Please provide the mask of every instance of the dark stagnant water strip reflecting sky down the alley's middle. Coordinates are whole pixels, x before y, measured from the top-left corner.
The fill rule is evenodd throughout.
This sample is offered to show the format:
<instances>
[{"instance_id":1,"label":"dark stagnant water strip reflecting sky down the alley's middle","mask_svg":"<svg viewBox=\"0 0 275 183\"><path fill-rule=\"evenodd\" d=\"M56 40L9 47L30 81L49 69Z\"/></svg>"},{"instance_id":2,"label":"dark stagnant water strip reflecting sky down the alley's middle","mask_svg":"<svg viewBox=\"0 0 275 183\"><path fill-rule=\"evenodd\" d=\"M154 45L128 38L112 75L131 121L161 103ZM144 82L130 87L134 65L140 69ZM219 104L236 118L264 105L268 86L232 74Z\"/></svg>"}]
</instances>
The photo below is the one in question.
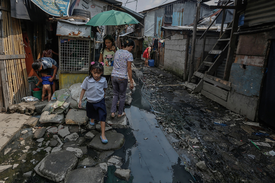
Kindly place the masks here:
<instances>
[{"instance_id":1,"label":"dark stagnant water strip reflecting sky down the alley's middle","mask_svg":"<svg viewBox=\"0 0 275 183\"><path fill-rule=\"evenodd\" d=\"M131 169L129 182L200 182L185 170L184 162L166 139L150 104L143 97L149 95L145 92L142 84L136 86L131 106L125 108L131 128L117 130L124 134L125 144L114 155L125 158L122 168ZM105 182L126 182L114 177L112 172L114 168L108 168Z\"/></svg>"}]
</instances>

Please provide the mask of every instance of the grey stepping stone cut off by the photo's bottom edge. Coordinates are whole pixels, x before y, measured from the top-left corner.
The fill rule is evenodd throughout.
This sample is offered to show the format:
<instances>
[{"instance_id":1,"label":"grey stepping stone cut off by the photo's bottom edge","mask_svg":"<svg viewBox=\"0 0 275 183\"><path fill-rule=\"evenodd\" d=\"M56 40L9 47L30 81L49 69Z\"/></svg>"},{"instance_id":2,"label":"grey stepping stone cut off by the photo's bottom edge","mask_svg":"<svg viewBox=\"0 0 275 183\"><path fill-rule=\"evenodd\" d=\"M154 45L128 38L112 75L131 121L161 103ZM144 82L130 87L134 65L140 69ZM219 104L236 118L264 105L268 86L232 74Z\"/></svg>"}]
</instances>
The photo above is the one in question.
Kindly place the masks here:
<instances>
[{"instance_id":1,"label":"grey stepping stone cut off by the photo's bottom edge","mask_svg":"<svg viewBox=\"0 0 275 183\"><path fill-rule=\"evenodd\" d=\"M103 183L104 175L100 167L79 168L69 172L64 183Z\"/></svg>"}]
</instances>

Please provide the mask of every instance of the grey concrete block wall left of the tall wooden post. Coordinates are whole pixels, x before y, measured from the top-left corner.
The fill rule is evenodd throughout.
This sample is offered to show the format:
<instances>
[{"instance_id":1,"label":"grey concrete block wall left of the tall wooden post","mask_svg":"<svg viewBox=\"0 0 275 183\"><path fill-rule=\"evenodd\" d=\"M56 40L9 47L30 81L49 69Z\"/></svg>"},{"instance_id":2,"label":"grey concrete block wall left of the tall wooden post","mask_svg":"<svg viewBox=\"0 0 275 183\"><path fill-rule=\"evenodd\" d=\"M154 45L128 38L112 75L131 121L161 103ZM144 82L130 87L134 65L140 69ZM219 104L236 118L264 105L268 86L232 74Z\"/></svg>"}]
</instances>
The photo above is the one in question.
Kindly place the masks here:
<instances>
[{"instance_id":1,"label":"grey concrete block wall left of the tall wooden post","mask_svg":"<svg viewBox=\"0 0 275 183\"><path fill-rule=\"evenodd\" d=\"M186 62L187 38L184 34L175 34L165 39L164 69L183 77Z\"/></svg>"}]
</instances>

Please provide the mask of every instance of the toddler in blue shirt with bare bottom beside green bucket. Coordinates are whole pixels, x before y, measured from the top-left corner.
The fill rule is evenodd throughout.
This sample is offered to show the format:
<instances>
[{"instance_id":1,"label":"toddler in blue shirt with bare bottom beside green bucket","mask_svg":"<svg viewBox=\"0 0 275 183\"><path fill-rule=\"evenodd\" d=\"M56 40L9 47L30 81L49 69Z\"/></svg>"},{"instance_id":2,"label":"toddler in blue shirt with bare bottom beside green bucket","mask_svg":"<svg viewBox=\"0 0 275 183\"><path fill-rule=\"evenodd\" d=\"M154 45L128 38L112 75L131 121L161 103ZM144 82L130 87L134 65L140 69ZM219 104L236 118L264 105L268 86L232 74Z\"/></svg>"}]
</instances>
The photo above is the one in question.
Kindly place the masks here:
<instances>
[{"instance_id":1,"label":"toddler in blue shirt with bare bottom beside green bucket","mask_svg":"<svg viewBox=\"0 0 275 183\"><path fill-rule=\"evenodd\" d=\"M48 75L48 69L43 69L40 71L40 73L41 73L41 79L43 84L41 101L44 101L46 91L48 91L48 101L50 101L52 96L51 85L53 84L53 82L50 82L49 78L51 78L52 76ZM41 83L40 81L37 82L36 86L38 86L40 83Z\"/></svg>"}]
</instances>

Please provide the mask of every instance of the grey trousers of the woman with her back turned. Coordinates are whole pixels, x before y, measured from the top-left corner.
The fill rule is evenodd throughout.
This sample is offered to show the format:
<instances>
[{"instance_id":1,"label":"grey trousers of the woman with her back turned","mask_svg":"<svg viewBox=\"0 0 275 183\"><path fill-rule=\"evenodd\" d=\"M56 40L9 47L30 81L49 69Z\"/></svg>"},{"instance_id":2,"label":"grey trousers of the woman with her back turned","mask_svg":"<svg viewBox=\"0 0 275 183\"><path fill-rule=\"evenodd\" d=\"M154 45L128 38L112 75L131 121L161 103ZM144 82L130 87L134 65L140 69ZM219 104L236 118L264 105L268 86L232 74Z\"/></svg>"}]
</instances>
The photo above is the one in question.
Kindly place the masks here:
<instances>
[{"instance_id":1,"label":"grey trousers of the woman with her back turned","mask_svg":"<svg viewBox=\"0 0 275 183\"><path fill-rule=\"evenodd\" d=\"M116 112L116 105L119 98L118 114L123 113L124 103L126 99L126 90L128 85L128 79L122 77L111 77L113 84L113 101L111 112Z\"/></svg>"}]
</instances>

